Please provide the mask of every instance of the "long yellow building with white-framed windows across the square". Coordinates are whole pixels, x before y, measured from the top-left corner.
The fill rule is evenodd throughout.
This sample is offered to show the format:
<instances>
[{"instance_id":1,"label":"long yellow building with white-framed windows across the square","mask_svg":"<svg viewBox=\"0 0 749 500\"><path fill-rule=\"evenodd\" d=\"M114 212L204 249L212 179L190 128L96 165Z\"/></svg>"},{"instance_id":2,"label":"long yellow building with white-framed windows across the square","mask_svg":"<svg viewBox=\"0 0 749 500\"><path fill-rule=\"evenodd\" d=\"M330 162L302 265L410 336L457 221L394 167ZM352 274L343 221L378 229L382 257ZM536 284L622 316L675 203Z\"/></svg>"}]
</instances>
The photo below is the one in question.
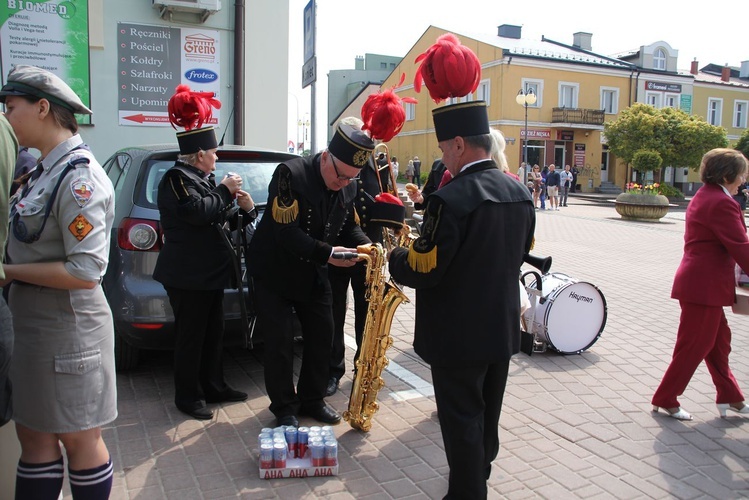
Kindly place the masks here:
<instances>
[{"instance_id":1,"label":"long yellow building with white-framed windows across the square","mask_svg":"<svg viewBox=\"0 0 749 500\"><path fill-rule=\"evenodd\" d=\"M444 33L430 26L382 85L397 84L405 73L406 83L397 92L419 100L416 105L406 104L406 123L389 143L401 166L414 156L426 165L441 157L432 110L446 103L435 104L426 89L415 92L413 75L418 66L413 61ZM478 89L459 100L487 102L491 126L507 140L511 169L524 160L527 130L528 162L577 167L583 192L609 184L623 187L634 178L631 167L608 151L603 130L606 122L636 102L702 116L726 128L734 142L747 127L749 79L744 73L749 63L742 64L741 70L731 69L726 80L726 75L721 79L711 74L712 67L696 73L679 70L678 51L664 41L609 57L593 52L589 33L575 33L569 45L547 38L522 39L521 28L511 25L500 26L497 36L456 35L482 64ZM535 102L527 108L518 104L518 93L533 93ZM665 179L685 193L700 185L698 174L686 166L667 168Z\"/></svg>"}]
</instances>

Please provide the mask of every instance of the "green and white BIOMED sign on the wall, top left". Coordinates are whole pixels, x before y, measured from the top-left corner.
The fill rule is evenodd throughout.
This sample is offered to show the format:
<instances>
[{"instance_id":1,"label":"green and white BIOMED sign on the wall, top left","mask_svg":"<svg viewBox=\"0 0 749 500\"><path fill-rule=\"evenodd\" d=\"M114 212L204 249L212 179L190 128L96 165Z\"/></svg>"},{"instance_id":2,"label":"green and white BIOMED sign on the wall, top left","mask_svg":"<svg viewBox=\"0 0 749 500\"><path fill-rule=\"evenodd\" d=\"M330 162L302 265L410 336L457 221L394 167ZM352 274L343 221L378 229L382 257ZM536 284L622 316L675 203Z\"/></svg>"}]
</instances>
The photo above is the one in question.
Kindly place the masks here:
<instances>
[{"instance_id":1,"label":"green and white BIOMED sign on the wall, top left","mask_svg":"<svg viewBox=\"0 0 749 500\"><path fill-rule=\"evenodd\" d=\"M0 80L16 65L38 66L70 85L91 107L88 0L2 0ZM77 115L79 123L91 123Z\"/></svg>"}]
</instances>

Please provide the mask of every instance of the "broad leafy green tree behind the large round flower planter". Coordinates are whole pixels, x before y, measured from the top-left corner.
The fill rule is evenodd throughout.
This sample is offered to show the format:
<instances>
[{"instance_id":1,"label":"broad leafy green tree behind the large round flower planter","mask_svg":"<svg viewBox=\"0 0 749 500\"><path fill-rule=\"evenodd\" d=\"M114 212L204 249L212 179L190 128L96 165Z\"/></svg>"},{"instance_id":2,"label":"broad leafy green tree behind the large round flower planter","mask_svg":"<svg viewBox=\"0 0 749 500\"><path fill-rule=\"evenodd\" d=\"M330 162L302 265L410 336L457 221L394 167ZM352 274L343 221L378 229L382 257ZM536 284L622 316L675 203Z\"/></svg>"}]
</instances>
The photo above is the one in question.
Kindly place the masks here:
<instances>
[{"instance_id":1,"label":"broad leafy green tree behind the large round flower planter","mask_svg":"<svg viewBox=\"0 0 749 500\"><path fill-rule=\"evenodd\" d=\"M728 145L726 131L707 123L702 117L680 109L656 109L636 103L622 111L619 118L604 125L609 151L627 163L641 150L657 152L664 167L689 167L697 170L702 155L713 148Z\"/></svg>"}]
</instances>

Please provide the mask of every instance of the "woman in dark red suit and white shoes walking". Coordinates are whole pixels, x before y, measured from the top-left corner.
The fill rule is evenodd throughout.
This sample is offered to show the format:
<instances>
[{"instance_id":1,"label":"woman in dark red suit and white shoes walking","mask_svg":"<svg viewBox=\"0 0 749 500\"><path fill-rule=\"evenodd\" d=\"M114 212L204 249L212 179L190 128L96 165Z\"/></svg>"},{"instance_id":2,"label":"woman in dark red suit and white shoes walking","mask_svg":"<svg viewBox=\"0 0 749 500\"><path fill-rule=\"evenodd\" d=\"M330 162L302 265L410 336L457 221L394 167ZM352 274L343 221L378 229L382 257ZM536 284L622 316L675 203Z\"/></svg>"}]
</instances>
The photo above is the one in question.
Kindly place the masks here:
<instances>
[{"instance_id":1,"label":"woman in dark red suit and white shoes walking","mask_svg":"<svg viewBox=\"0 0 749 500\"><path fill-rule=\"evenodd\" d=\"M704 360L717 389L720 416L727 410L749 414L728 367L731 329L723 312L735 299L735 264L749 270L746 225L732 198L746 180L747 168L746 158L733 149L713 149L702 157L704 185L687 208L684 257L671 290L681 306L679 331L671 364L653 395L654 412L663 408L673 418L692 419L677 398Z\"/></svg>"}]
</instances>

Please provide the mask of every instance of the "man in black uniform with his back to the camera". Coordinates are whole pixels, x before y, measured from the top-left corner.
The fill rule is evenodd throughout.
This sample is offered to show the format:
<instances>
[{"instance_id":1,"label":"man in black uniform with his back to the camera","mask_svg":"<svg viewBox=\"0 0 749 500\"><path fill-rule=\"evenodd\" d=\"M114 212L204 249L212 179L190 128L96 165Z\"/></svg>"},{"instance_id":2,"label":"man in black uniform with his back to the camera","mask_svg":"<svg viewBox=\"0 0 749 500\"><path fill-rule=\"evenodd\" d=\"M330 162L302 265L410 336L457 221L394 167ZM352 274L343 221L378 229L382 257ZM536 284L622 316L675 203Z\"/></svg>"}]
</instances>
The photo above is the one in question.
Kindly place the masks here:
<instances>
[{"instance_id":1,"label":"man in black uniform with his back to the camera","mask_svg":"<svg viewBox=\"0 0 749 500\"><path fill-rule=\"evenodd\" d=\"M431 365L450 467L445 498L486 498L520 348L518 276L535 213L525 186L490 159L486 103L440 107L433 117L453 179L427 198L422 235L391 252L390 273L416 289L414 349Z\"/></svg>"}]
</instances>

